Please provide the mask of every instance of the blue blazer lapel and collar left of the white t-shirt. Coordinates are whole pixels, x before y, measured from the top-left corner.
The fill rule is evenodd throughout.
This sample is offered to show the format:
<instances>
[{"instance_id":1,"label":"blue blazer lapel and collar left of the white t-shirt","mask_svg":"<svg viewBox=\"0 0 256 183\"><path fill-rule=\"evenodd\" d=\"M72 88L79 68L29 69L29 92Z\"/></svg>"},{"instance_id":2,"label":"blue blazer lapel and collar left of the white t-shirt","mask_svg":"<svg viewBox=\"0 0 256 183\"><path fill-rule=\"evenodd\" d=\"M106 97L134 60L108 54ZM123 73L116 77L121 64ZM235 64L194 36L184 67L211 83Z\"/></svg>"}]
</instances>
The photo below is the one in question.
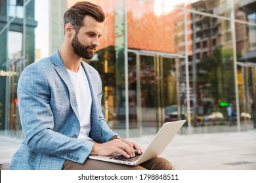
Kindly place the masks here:
<instances>
[{"instance_id":1,"label":"blue blazer lapel and collar left of the white t-shirt","mask_svg":"<svg viewBox=\"0 0 256 183\"><path fill-rule=\"evenodd\" d=\"M66 70L64 63L63 63L62 59L60 58L60 54L58 51L56 51L55 54L53 55L52 61L53 61L53 64L55 65L54 66L55 71L58 73L60 78L62 78L62 80L68 87L68 91L70 93L70 105L75 112L75 116L77 116L77 119L79 120L75 90L74 90L72 81L70 79L70 76L68 75L68 71Z\"/></svg>"}]
</instances>

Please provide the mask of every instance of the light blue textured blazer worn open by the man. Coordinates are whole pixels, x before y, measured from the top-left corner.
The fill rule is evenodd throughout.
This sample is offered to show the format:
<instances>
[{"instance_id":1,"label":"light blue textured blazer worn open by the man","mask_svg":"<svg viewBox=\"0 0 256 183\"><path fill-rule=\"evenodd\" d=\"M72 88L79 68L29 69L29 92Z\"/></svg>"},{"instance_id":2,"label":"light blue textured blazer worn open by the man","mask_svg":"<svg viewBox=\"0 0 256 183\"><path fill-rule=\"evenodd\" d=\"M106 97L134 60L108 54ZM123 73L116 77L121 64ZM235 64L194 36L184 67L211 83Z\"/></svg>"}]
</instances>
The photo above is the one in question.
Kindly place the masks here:
<instances>
[{"instance_id":1,"label":"light blue textured blazer worn open by the man","mask_svg":"<svg viewBox=\"0 0 256 183\"><path fill-rule=\"evenodd\" d=\"M81 63L93 99L90 137L107 142L117 135L102 114L98 72ZM10 169L62 169L65 159L84 163L94 142L77 139L80 131L75 91L59 52L28 65L18 81L18 109L24 141Z\"/></svg>"}]
</instances>

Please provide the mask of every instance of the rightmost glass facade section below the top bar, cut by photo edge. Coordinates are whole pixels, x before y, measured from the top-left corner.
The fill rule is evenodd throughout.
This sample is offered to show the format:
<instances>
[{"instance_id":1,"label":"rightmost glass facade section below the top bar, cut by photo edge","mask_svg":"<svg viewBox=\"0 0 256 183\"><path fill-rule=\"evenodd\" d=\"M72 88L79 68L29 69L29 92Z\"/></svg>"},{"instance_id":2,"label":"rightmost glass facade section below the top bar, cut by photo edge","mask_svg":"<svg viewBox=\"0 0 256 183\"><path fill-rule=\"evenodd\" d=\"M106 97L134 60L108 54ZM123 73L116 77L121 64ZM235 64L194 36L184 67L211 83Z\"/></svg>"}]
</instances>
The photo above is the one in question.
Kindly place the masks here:
<instances>
[{"instance_id":1,"label":"rightmost glass facade section below the top bar, cut by photo edge","mask_svg":"<svg viewBox=\"0 0 256 183\"><path fill-rule=\"evenodd\" d=\"M236 23L236 51L238 59L238 89L242 131L253 129L256 93L256 26Z\"/></svg>"}]
</instances>

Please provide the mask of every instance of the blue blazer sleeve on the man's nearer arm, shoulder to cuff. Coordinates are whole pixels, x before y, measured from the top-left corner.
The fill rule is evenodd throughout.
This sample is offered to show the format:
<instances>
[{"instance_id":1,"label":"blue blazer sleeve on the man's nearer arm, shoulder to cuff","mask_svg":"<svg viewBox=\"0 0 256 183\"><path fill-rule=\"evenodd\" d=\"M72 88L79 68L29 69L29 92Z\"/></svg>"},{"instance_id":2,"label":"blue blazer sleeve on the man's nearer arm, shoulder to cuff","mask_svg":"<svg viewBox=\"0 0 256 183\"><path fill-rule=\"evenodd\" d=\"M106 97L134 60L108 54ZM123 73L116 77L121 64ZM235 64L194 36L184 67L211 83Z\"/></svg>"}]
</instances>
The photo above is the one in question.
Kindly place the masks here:
<instances>
[{"instance_id":1,"label":"blue blazer sleeve on the man's nearer arm, shoulder to cuff","mask_svg":"<svg viewBox=\"0 0 256 183\"><path fill-rule=\"evenodd\" d=\"M46 77L51 74L37 66L26 67L18 81L18 108L25 141L34 153L83 163L94 142L72 138L72 127L64 133L54 131L51 90Z\"/></svg>"}]
</instances>

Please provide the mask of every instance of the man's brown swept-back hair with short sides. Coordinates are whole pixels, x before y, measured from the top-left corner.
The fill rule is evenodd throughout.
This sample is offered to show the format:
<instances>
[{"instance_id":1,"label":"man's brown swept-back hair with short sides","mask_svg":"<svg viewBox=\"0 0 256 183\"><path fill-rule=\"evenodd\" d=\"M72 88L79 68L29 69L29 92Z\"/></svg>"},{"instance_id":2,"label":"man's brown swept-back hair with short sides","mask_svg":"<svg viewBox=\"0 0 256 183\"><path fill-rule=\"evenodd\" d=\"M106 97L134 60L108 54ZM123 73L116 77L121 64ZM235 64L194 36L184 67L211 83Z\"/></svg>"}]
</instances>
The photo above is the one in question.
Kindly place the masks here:
<instances>
[{"instance_id":1,"label":"man's brown swept-back hair with short sides","mask_svg":"<svg viewBox=\"0 0 256 183\"><path fill-rule=\"evenodd\" d=\"M78 33L80 27L83 26L83 19L86 15L92 16L98 22L104 22L105 20L104 11L100 6L87 1L81 1L75 3L75 5L68 8L64 13L64 27L70 22L74 27L75 32Z\"/></svg>"}]
</instances>

